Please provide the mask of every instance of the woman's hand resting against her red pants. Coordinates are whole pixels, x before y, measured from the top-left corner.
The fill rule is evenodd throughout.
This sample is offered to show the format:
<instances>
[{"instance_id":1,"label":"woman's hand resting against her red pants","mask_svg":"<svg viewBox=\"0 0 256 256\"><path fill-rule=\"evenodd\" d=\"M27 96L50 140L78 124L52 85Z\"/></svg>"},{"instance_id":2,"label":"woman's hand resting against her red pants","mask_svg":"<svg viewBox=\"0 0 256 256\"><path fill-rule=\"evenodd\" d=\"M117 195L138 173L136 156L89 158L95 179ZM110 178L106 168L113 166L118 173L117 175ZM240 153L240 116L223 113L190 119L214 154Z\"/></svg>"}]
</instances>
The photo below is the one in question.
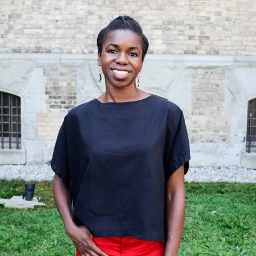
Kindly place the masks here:
<instances>
[{"instance_id":1,"label":"woman's hand resting against her red pants","mask_svg":"<svg viewBox=\"0 0 256 256\"><path fill-rule=\"evenodd\" d=\"M108 256L103 253L92 241L92 235L85 226L76 226L66 228L68 237L74 242L81 256Z\"/></svg>"}]
</instances>

